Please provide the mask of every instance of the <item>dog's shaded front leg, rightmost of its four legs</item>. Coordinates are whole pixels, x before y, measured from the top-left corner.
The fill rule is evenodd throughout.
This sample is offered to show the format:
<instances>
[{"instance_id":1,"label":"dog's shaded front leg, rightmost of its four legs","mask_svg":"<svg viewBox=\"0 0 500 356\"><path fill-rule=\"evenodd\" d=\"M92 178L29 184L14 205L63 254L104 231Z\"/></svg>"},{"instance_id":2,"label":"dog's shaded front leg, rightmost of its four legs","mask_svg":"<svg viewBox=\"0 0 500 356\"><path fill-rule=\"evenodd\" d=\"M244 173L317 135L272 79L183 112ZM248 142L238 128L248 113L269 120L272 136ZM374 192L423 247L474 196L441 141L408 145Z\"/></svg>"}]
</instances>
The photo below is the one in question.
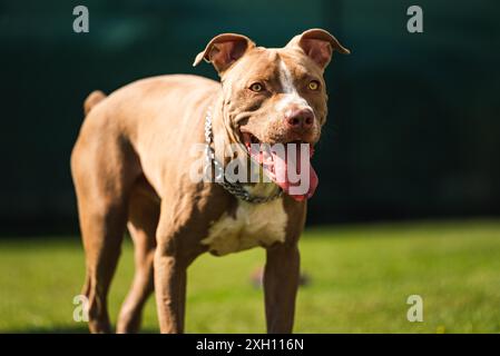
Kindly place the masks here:
<instances>
[{"instance_id":1,"label":"dog's shaded front leg, rightmost of its four legs","mask_svg":"<svg viewBox=\"0 0 500 356\"><path fill-rule=\"evenodd\" d=\"M267 248L264 270L267 333L292 333L298 277L300 254L296 243L276 244Z\"/></svg>"}]
</instances>

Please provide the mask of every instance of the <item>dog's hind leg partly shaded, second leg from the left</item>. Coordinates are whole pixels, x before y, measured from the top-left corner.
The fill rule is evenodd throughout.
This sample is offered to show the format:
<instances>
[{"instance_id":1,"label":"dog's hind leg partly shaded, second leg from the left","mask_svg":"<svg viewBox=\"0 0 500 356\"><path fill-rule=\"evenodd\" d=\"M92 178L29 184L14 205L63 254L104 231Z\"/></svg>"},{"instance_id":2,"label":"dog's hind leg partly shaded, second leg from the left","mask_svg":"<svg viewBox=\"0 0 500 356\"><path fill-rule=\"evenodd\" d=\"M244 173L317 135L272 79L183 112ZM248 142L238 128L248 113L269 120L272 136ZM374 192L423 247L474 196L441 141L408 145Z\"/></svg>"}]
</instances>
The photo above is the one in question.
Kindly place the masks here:
<instances>
[{"instance_id":1,"label":"dog's hind leg partly shaded, second leg from the left","mask_svg":"<svg viewBox=\"0 0 500 356\"><path fill-rule=\"evenodd\" d=\"M153 263L159 218L159 204L155 200L140 186L130 196L127 226L134 241L136 271L118 317L117 333L120 334L139 330L144 305L154 290Z\"/></svg>"}]
</instances>

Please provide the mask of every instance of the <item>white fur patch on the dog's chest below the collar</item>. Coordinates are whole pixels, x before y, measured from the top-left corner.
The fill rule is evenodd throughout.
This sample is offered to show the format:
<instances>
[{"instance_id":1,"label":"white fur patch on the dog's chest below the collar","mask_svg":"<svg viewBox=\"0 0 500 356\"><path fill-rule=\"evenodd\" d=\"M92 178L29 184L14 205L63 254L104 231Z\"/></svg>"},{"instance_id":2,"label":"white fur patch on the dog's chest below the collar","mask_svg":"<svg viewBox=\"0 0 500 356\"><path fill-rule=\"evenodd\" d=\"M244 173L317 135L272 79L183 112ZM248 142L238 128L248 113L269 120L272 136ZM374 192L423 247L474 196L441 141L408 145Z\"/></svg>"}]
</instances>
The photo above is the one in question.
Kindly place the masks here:
<instances>
[{"instance_id":1,"label":"white fur patch on the dog's chest below the collar","mask_svg":"<svg viewBox=\"0 0 500 356\"><path fill-rule=\"evenodd\" d=\"M235 214L224 212L214 221L202 244L217 256L269 246L285 240L287 215L283 200L266 204L239 201Z\"/></svg>"}]
</instances>

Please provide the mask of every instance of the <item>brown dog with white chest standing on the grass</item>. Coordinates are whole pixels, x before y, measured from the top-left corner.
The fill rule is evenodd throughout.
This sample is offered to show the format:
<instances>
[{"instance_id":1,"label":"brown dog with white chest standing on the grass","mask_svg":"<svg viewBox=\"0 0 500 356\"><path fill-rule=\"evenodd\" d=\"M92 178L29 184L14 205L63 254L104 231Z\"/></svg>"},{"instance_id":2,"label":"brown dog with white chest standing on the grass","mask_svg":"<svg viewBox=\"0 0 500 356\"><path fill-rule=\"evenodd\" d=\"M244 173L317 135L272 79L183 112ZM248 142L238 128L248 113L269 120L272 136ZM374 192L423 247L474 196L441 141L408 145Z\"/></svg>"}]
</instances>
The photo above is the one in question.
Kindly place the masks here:
<instances>
[{"instance_id":1,"label":"brown dog with white chest standing on the grass","mask_svg":"<svg viewBox=\"0 0 500 356\"><path fill-rule=\"evenodd\" d=\"M320 29L305 31L280 49L225 33L195 60L195 65L202 59L212 62L220 83L163 76L139 80L109 97L96 91L87 98L71 171L92 333L111 332L106 300L126 227L135 245L136 274L117 332L138 330L143 306L155 287L160 330L182 333L186 269L193 260L205 251L225 255L255 246L267 253L267 330L292 332L297 240L317 177L310 168L306 190L294 194L294 182L281 174L290 166L298 172L310 167L308 156L292 165L285 151L284 158L273 154L264 164L252 147L317 142L326 120L323 71L334 50L349 53ZM233 158L261 162L273 182L194 180L190 172L197 159L189 152L204 142L215 149L208 160L212 172L213 165L228 162L222 154L225 147L237 144ZM276 178L280 175L282 179Z\"/></svg>"}]
</instances>

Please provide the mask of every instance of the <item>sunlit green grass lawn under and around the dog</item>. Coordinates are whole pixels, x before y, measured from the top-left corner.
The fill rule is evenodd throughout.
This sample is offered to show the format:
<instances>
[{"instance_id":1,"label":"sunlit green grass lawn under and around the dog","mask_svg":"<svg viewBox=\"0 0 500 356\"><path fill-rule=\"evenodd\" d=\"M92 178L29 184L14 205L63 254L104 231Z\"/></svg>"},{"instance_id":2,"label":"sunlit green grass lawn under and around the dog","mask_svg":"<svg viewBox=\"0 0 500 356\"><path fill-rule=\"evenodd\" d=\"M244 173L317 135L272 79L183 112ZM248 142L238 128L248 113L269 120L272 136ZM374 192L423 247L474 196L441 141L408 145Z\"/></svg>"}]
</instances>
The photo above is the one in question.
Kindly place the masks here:
<instances>
[{"instance_id":1,"label":"sunlit green grass lawn under and around the dog","mask_svg":"<svg viewBox=\"0 0 500 356\"><path fill-rule=\"evenodd\" d=\"M116 320L133 275L130 244L109 296ZM365 225L307 230L296 333L500 333L500 222ZM189 269L186 332L264 333L254 249L200 257ZM0 332L86 332L72 320L84 280L78 238L0 240ZM422 296L423 323L406 320ZM157 332L154 298L144 327Z\"/></svg>"}]
</instances>

